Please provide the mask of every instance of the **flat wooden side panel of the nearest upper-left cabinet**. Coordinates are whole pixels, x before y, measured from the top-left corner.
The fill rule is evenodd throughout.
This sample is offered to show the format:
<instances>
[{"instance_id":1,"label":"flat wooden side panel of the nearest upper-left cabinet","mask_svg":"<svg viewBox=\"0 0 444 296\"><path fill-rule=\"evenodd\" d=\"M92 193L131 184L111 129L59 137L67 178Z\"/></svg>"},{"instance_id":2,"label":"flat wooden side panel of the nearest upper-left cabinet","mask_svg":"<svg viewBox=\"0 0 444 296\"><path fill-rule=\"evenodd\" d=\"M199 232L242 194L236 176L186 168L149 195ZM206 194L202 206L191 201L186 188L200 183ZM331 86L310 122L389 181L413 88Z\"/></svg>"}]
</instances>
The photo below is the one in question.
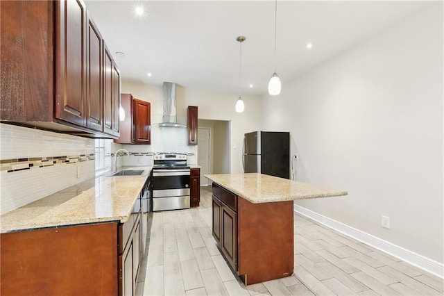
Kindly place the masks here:
<instances>
[{"instance_id":1,"label":"flat wooden side panel of the nearest upper-left cabinet","mask_svg":"<svg viewBox=\"0 0 444 296\"><path fill-rule=\"evenodd\" d=\"M0 1L2 121L53 120L55 9L53 1Z\"/></svg>"}]
</instances>

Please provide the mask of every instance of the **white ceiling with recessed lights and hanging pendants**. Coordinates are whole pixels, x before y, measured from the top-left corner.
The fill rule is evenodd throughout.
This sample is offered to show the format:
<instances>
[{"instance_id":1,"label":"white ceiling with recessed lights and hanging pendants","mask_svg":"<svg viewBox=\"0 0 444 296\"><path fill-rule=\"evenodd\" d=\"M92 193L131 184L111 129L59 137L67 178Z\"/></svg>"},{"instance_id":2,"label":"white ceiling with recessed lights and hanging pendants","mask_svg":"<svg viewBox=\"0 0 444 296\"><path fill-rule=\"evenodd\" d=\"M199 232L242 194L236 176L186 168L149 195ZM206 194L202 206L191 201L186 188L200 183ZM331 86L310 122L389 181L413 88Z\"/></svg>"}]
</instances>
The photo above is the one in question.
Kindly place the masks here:
<instances>
[{"instance_id":1,"label":"white ceiling with recessed lights and hanging pendants","mask_svg":"<svg viewBox=\"0 0 444 296\"><path fill-rule=\"evenodd\" d=\"M416 13L425 1L85 1L124 80L263 94ZM137 17L135 6L144 7ZM314 47L307 49L307 42ZM115 54L122 51L123 57ZM152 74L151 77L147 73ZM250 88L250 84L253 88Z\"/></svg>"}]
</instances>

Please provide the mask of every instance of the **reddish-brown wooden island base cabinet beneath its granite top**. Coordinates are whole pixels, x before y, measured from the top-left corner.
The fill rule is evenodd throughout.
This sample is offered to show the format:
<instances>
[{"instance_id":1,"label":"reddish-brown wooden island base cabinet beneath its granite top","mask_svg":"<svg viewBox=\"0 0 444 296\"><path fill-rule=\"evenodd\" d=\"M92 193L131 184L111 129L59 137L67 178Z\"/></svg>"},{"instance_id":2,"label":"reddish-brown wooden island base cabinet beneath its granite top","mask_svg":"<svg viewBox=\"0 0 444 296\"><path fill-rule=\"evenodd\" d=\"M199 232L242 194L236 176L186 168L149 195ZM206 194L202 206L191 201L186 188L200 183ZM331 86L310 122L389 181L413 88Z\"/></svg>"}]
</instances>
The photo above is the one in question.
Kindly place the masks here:
<instances>
[{"instance_id":1,"label":"reddish-brown wooden island base cabinet beneath its granite top","mask_svg":"<svg viewBox=\"0 0 444 296\"><path fill-rule=\"evenodd\" d=\"M246 285L293 274L293 202L252 204L213 183L212 234Z\"/></svg>"}]
</instances>

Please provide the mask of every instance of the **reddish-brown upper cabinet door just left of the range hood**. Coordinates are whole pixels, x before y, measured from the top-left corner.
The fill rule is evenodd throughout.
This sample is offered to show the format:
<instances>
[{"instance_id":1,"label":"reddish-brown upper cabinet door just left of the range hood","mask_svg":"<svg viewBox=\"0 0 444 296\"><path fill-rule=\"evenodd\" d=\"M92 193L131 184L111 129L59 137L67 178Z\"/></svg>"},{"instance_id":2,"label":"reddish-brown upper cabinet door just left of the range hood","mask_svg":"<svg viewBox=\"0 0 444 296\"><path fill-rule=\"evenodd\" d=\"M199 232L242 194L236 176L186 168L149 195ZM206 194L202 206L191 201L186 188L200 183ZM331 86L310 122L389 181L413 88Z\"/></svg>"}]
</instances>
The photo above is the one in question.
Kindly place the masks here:
<instances>
[{"instance_id":1,"label":"reddish-brown upper cabinet door just left of the range hood","mask_svg":"<svg viewBox=\"0 0 444 296\"><path fill-rule=\"evenodd\" d=\"M151 104L133 99L133 131L135 144L151 144Z\"/></svg>"}]
</instances>

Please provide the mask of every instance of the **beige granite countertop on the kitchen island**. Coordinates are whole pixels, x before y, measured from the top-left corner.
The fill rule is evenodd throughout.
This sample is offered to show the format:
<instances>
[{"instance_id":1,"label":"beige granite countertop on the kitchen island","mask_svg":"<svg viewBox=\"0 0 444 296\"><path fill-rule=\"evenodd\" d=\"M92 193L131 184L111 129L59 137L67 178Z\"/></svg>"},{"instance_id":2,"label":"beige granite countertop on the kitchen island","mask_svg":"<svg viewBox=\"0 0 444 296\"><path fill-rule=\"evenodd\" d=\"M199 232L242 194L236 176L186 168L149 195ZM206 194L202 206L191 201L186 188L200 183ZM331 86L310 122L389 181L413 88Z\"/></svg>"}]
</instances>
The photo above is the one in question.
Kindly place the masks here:
<instances>
[{"instance_id":1,"label":"beige granite countertop on the kitchen island","mask_svg":"<svg viewBox=\"0 0 444 296\"><path fill-rule=\"evenodd\" d=\"M348 195L348 192L343 190L266 174L205 174L205 177L253 204Z\"/></svg>"}]
</instances>

